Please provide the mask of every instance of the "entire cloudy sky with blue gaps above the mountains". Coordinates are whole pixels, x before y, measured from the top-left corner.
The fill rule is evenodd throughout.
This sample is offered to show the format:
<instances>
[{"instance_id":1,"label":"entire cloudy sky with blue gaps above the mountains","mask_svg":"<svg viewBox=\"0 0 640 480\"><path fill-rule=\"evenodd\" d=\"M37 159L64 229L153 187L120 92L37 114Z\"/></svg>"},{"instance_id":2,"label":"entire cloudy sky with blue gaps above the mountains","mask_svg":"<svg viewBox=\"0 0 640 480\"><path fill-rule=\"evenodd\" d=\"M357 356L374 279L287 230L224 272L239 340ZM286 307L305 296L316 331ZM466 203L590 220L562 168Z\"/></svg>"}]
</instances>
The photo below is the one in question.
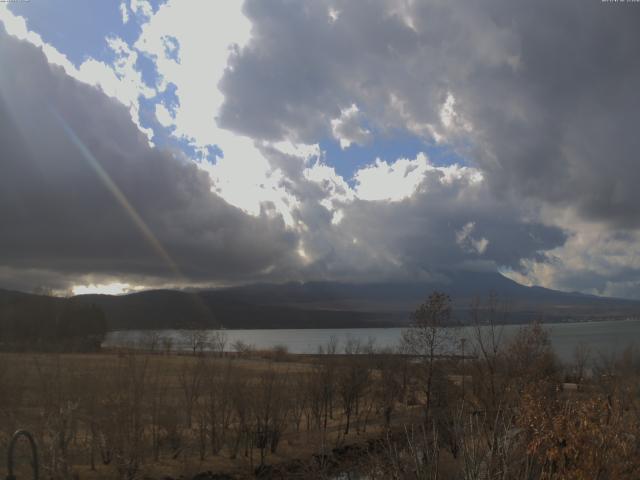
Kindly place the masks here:
<instances>
[{"instance_id":1,"label":"entire cloudy sky with blue gaps above the mountains","mask_svg":"<svg viewBox=\"0 0 640 480\"><path fill-rule=\"evenodd\" d=\"M640 3L0 3L0 287L640 299ZM446 273L445 273L446 274Z\"/></svg>"}]
</instances>

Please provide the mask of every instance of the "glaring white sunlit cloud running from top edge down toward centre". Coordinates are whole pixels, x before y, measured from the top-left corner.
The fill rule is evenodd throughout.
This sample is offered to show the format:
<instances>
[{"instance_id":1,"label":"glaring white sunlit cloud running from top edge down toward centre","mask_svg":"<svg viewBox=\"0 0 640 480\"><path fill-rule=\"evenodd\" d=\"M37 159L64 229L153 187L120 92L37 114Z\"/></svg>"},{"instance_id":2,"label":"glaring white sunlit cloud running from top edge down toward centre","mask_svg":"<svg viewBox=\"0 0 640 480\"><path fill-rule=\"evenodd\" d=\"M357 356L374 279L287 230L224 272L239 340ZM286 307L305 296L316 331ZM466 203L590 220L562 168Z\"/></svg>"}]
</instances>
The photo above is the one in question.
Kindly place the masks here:
<instances>
[{"instance_id":1,"label":"glaring white sunlit cloud running from top edge down toward centre","mask_svg":"<svg viewBox=\"0 0 640 480\"><path fill-rule=\"evenodd\" d=\"M225 8L221 8L214 2L169 0L142 25L135 48L154 60L160 75L159 89L170 83L176 87L178 101L174 113L167 115L164 106L156 107L161 124L174 127L172 135L196 149L217 145L223 151L224 156L215 163L200 163L209 173L213 189L252 215L271 205L287 225L293 226L292 211L297 199L282 187L282 173L270 165L252 139L220 129L215 121L224 100L217 83L229 55L246 44L249 31L250 24L242 14L240 2L225 3ZM175 39L179 46L179 61L166 48L166 38ZM317 151L317 147L285 146L285 143L279 147L297 150L296 154L301 156Z\"/></svg>"}]
</instances>

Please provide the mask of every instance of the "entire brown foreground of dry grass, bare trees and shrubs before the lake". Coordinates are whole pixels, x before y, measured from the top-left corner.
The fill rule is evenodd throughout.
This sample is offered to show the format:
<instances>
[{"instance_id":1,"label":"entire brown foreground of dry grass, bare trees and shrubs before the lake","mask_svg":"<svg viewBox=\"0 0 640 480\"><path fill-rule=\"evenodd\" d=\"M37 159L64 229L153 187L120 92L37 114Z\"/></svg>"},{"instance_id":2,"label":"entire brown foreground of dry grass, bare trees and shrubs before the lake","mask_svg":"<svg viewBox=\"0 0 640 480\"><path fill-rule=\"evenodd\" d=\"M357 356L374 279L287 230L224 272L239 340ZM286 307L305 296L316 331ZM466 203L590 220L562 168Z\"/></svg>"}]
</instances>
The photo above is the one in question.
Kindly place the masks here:
<instances>
[{"instance_id":1,"label":"entire brown foreground of dry grass, bare trees and shrubs before the lake","mask_svg":"<svg viewBox=\"0 0 640 480\"><path fill-rule=\"evenodd\" d=\"M562 363L540 324L506 338L506 313L476 303L456 352L440 350L455 329L436 292L393 351L193 330L188 352L149 335L146 350L0 353L0 451L29 429L60 480L638 478L640 350L581 345Z\"/></svg>"}]
</instances>

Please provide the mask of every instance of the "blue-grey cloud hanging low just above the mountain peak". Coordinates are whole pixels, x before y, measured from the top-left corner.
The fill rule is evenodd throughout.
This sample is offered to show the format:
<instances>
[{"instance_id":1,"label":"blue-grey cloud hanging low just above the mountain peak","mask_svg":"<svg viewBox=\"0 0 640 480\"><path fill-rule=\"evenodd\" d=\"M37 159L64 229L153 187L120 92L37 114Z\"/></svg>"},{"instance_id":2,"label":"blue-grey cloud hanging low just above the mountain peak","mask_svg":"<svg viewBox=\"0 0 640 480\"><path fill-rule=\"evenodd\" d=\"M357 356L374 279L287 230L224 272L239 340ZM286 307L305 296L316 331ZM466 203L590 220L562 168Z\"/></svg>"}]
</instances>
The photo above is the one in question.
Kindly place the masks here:
<instances>
[{"instance_id":1,"label":"blue-grey cloud hanging low just above the mountain peak","mask_svg":"<svg viewBox=\"0 0 640 480\"><path fill-rule=\"evenodd\" d=\"M546 261L545 251L562 245L555 227L522 219L523 212L495 201L483 185L465 179L442 183L427 174L420 191L397 203L356 201L345 208L342 234L352 235L390 267L411 274L442 269L518 269L522 259ZM462 233L468 229L468 236ZM471 242L484 242L473 247ZM344 262L350 255L335 258ZM336 265L334 265L335 267Z\"/></svg>"}]
</instances>

